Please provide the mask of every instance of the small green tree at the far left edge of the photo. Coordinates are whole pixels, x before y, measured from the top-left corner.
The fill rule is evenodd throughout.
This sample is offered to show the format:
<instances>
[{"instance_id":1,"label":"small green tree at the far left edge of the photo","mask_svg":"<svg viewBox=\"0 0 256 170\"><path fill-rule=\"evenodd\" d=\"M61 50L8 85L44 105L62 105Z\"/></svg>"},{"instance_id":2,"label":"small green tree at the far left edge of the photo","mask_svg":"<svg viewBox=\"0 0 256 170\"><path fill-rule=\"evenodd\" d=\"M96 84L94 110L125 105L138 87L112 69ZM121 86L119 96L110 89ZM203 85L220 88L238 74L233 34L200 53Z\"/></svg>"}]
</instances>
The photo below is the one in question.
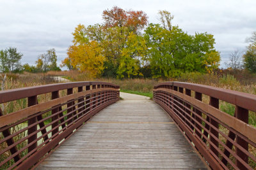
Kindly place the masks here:
<instances>
[{"instance_id":1,"label":"small green tree at the far left edge of the photo","mask_svg":"<svg viewBox=\"0 0 256 170\"><path fill-rule=\"evenodd\" d=\"M17 52L17 48L9 47L0 51L0 71L6 73L8 71L19 72L21 68L20 59L22 53Z\"/></svg>"}]
</instances>

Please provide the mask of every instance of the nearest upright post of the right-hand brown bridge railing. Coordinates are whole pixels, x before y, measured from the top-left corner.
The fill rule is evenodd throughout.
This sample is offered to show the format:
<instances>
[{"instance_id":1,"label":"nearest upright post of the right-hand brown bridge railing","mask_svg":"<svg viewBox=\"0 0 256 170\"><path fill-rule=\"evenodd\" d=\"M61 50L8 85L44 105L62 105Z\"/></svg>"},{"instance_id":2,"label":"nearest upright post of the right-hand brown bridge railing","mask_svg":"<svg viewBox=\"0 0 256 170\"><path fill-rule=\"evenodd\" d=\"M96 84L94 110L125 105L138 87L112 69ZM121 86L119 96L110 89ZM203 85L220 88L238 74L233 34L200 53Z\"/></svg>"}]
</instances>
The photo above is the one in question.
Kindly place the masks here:
<instances>
[{"instance_id":1,"label":"nearest upright post of the right-hand brown bridge railing","mask_svg":"<svg viewBox=\"0 0 256 170\"><path fill-rule=\"evenodd\" d=\"M248 110L241 108L239 106L236 106L236 117L239 120L242 120L243 122L248 124L248 120L249 120ZM236 143L248 151L248 143L243 138L239 137L238 135L236 136ZM241 157L241 159L243 159L244 162L246 162L248 164L248 155L246 155L241 150L239 150L239 148L236 148L236 154L239 157ZM241 162L239 162L239 160L236 160L236 165L237 165L237 167L239 167L239 169L247 169L246 167L243 166L243 164Z\"/></svg>"}]
</instances>

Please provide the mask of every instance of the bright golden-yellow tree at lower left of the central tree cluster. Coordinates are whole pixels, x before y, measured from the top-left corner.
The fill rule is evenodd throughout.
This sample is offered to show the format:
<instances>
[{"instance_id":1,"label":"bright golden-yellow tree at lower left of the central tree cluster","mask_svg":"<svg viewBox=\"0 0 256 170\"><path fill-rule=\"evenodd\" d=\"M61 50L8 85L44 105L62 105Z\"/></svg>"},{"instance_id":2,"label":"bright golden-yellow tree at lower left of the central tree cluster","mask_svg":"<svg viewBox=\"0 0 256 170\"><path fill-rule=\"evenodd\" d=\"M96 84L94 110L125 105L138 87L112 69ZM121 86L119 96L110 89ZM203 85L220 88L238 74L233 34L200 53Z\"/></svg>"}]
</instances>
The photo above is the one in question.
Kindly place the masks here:
<instances>
[{"instance_id":1,"label":"bright golden-yellow tree at lower left of the central tree cluster","mask_svg":"<svg viewBox=\"0 0 256 170\"><path fill-rule=\"evenodd\" d=\"M97 41L79 43L68 48L68 58L73 67L80 71L87 71L93 77L99 76L104 70L105 57Z\"/></svg>"}]
</instances>

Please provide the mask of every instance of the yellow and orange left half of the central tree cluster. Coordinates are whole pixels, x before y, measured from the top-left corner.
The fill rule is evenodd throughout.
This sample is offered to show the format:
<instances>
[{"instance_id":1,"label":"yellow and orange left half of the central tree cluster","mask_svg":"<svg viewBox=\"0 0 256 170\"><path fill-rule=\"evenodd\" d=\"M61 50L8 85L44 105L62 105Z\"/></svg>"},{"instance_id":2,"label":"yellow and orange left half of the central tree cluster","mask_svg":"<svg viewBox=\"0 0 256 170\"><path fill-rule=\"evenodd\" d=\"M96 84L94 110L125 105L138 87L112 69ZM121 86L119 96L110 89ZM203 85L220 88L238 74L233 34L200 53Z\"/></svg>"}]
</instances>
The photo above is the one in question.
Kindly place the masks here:
<instances>
[{"instance_id":1,"label":"yellow and orange left half of the central tree cluster","mask_svg":"<svg viewBox=\"0 0 256 170\"><path fill-rule=\"evenodd\" d=\"M124 78L140 74L141 57L145 54L141 48L146 51L140 31L147 25L147 15L114 6L104 10L102 17L102 25L77 25L72 33L74 45L68 48L63 65L70 61L74 68L93 72L93 76ZM132 45L131 35L140 42Z\"/></svg>"}]
</instances>

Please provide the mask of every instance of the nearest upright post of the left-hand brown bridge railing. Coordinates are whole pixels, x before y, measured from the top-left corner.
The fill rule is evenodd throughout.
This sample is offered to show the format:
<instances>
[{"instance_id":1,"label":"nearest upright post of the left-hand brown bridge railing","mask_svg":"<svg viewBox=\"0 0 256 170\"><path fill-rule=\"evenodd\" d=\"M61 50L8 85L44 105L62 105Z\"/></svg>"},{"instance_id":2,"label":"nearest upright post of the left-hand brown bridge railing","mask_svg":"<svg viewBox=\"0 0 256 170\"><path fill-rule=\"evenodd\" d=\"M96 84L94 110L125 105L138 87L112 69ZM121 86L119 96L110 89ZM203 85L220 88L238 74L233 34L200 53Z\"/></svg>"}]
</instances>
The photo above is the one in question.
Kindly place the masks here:
<instances>
[{"instance_id":1,"label":"nearest upright post of the left-hand brown bridge railing","mask_svg":"<svg viewBox=\"0 0 256 170\"><path fill-rule=\"evenodd\" d=\"M28 97L28 107L29 106L33 106L36 104L37 101L37 96L31 96ZM35 124L36 123L36 117L32 117L28 120L28 126ZM28 136L30 136L30 134L32 134L33 132L35 132L37 130L36 125L33 125L32 127L29 127L28 129ZM28 138L28 145L32 142L34 142L37 138L37 134L33 134L32 136L30 136ZM28 147L28 153L31 152L33 149L35 149L37 146L37 142L33 143L31 146Z\"/></svg>"}]
</instances>

